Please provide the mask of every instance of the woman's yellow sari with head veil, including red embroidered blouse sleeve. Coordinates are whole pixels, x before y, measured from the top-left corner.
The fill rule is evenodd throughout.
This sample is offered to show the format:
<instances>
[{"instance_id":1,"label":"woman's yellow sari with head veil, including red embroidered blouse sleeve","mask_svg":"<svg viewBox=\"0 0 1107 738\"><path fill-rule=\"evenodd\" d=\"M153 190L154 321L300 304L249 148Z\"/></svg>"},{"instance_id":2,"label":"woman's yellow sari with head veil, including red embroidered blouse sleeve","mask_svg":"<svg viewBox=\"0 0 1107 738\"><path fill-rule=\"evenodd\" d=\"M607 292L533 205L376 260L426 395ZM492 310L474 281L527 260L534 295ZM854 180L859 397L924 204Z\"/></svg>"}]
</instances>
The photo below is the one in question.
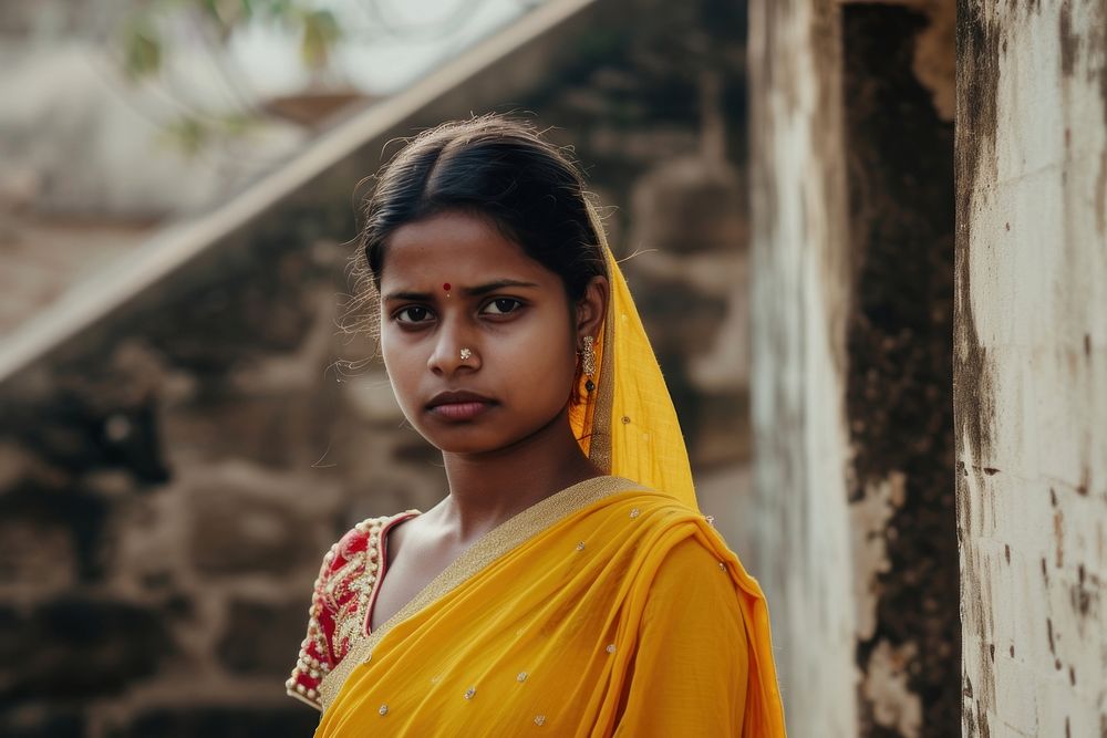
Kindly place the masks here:
<instances>
[{"instance_id":1,"label":"woman's yellow sari with head veil, including red embroidered blouse sleeve","mask_svg":"<svg viewBox=\"0 0 1107 738\"><path fill-rule=\"evenodd\" d=\"M672 401L602 246L597 389L570 420L608 476L503 523L371 633L387 529L416 512L348 533L287 683L323 710L315 738L785 736L765 597L696 508Z\"/></svg>"}]
</instances>

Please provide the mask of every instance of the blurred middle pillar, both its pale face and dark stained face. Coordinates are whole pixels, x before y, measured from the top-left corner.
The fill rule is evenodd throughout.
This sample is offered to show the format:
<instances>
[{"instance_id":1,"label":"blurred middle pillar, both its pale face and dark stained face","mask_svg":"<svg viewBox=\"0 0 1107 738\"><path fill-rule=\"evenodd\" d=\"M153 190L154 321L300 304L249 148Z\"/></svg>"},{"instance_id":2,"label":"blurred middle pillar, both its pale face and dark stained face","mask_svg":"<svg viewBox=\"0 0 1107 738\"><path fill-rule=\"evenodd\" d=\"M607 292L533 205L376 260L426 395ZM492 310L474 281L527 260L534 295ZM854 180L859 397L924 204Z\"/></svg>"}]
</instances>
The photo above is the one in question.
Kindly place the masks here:
<instances>
[{"instance_id":1,"label":"blurred middle pillar, both its pale face and dark stained face","mask_svg":"<svg viewBox=\"0 0 1107 738\"><path fill-rule=\"evenodd\" d=\"M958 723L953 10L752 6L751 522L796 735Z\"/></svg>"}]
</instances>

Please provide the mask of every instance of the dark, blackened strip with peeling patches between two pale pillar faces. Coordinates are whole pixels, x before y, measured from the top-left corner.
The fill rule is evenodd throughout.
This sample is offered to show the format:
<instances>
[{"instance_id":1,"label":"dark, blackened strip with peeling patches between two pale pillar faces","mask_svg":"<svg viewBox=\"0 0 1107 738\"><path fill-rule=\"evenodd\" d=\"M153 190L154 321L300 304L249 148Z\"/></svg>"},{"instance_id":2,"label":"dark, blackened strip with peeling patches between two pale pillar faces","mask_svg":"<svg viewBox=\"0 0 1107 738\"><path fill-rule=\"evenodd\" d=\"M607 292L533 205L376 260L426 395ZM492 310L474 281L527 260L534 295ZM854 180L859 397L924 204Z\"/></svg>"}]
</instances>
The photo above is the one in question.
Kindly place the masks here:
<instances>
[{"instance_id":1,"label":"dark, blackened strip with peeling patches between two pale pillar faces","mask_svg":"<svg viewBox=\"0 0 1107 738\"><path fill-rule=\"evenodd\" d=\"M859 728L949 735L961 709L951 606L954 6L841 12Z\"/></svg>"}]
</instances>

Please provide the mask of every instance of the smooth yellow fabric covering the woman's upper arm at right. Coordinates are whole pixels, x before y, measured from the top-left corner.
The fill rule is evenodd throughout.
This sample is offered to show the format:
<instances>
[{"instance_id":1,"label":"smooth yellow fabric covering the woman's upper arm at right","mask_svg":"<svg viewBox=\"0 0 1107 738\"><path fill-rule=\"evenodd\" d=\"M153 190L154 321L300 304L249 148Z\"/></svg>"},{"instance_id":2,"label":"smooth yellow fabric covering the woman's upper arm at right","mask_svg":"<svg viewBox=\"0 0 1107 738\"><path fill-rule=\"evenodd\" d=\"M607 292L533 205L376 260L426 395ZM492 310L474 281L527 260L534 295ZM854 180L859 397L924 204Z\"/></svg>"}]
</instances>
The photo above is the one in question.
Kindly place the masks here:
<instances>
[{"instance_id":1,"label":"smooth yellow fabric covering the woman's upper arm at right","mask_svg":"<svg viewBox=\"0 0 1107 738\"><path fill-rule=\"evenodd\" d=\"M615 736L743 736L749 646L730 576L694 538L658 571Z\"/></svg>"}]
</instances>

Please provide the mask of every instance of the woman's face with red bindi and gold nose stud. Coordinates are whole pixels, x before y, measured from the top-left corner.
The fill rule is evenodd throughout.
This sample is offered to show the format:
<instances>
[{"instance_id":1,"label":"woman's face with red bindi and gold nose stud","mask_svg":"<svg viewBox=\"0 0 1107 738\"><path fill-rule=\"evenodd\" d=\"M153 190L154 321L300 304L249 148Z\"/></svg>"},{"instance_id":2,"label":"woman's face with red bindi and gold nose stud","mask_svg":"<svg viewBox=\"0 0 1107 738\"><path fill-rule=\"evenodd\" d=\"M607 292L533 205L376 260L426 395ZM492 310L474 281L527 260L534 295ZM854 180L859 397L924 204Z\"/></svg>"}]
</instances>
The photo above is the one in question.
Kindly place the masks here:
<instances>
[{"instance_id":1,"label":"woman's face with red bindi and gold nose stud","mask_svg":"<svg viewBox=\"0 0 1107 738\"><path fill-rule=\"evenodd\" d=\"M577 336L556 273L465 212L396 229L382 272L384 365L423 437L480 454L562 417Z\"/></svg>"}]
</instances>

